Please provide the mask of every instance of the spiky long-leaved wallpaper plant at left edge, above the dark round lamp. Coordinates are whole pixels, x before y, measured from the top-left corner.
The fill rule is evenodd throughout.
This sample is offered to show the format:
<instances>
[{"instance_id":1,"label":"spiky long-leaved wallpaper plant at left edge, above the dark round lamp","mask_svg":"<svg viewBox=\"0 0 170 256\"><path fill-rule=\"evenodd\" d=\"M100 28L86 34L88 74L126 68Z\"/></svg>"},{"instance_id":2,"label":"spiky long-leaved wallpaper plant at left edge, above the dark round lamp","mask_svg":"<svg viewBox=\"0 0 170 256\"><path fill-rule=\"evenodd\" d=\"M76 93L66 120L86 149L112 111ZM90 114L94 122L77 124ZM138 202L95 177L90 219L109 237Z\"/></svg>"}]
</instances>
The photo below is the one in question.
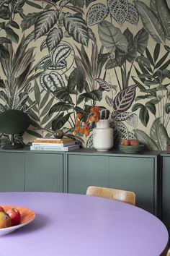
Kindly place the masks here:
<instances>
[{"instance_id":1,"label":"spiky long-leaved wallpaper plant at left edge, above the dark round lamp","mask_svg":"<svg viewBox=\"0 0 170 256\"><path fill-rule=\"evenodd\" d=\"M4 79L1 80L0 98L4 104L0 104L0 111L18 109L29 111L32 106L27 106L27 99L33 88L34 80L34 48L24 46L24 37L14 51L12 44L6 45L9 51L9 59L0 58Z\"/></svg>"}]
</instances>

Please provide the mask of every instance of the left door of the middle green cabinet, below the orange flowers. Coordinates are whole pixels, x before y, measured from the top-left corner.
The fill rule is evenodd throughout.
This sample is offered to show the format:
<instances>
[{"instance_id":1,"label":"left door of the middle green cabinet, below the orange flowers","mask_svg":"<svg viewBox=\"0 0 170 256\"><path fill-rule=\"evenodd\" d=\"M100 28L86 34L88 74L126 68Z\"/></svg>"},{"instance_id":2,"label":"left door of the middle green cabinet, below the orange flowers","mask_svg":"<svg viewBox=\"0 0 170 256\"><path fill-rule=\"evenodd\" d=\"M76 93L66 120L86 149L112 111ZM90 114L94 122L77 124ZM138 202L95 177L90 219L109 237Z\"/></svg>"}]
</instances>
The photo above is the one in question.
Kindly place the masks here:
<instances>
[{"instance_id":1,"label":"left door of the middle green cabinet, below the orange flowers","mask_svg":"<svg viewBox=\"0 0 170 256\"><path fill-rule=\"evenodd\" d=\"M97 155L68 155L68 192L86 194L89 186L108 187L109 161Z\"/></svg>"}]
</instances>

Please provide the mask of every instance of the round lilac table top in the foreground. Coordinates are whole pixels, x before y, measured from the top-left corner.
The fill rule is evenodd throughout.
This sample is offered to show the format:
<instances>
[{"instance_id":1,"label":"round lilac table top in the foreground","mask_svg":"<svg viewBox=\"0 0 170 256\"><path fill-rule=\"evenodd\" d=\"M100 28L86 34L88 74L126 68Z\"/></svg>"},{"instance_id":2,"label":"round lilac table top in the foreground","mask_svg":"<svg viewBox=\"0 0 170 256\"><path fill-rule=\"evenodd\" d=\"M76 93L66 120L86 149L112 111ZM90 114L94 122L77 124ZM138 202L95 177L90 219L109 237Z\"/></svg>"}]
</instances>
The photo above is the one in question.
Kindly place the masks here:
<instances>
[{"instance_id":1,"label":"round lilac table top in the foreground","mask_svg":"<svg viewBox=\"0 0 170 256\"><path fill-rule=\"evenodd\" d=\"M151 213L86 195L0 192L0 205L30 208L32 223L0 236L1 256L158 256L168 232Z\"/></svg>"}]
</instances>

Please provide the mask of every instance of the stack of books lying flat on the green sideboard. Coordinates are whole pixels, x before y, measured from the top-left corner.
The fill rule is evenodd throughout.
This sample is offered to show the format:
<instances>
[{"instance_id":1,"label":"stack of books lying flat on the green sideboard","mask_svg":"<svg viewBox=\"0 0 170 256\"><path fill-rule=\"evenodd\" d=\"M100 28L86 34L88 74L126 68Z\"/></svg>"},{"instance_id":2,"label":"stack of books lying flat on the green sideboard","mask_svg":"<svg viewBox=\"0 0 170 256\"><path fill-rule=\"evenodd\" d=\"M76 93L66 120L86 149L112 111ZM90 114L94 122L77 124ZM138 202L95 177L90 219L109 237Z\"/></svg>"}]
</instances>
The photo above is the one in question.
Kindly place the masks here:
<instances>
[{"instance_id":1,"label":"stack of books lying flat on the green sideboard","mask_svg":"<svg viewBox=\"0 0 170 256\"><path fill-rule=\"evenodd\" d=\"M79 145L76 145L76 141L63 137L62 139L54 138L37 138L32 142L30 150L57 150L57 151L70 151L79 149Z\"/></svg>"}]
</instances>

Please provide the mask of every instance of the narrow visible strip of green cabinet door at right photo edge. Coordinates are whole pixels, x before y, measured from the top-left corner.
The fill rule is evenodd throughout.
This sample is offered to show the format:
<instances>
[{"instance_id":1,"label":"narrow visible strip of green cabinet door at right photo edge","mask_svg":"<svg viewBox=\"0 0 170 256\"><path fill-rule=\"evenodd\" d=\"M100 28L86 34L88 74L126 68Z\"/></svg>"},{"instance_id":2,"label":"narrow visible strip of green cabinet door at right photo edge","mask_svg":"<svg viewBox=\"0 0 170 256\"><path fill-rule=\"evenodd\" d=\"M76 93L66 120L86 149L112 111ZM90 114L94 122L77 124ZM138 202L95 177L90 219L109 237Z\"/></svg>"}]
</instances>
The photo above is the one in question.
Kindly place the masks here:
<instances>
[{"instance_id":1,"label":"narrow visible strip of green cabinet door at right photo edge","mask_svg":"<svg viewBox=\"0 0 170 256\"><path fill-rule=\"evenodd\" d=\"M161 157L162 163L162 221L170 235L170 155Z\"/></svg>"}]
</instances>

